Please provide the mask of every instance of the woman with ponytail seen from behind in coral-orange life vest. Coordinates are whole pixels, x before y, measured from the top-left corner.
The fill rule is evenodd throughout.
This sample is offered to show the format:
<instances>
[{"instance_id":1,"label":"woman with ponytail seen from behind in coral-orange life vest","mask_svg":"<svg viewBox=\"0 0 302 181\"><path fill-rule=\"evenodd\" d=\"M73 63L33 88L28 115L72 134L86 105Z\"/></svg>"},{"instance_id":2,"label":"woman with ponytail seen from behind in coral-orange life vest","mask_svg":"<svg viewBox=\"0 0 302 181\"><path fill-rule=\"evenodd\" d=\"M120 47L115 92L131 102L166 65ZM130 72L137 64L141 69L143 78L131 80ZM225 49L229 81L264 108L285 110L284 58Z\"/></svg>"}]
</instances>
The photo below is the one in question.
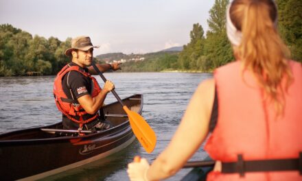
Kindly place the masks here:
<instances>
[{"instance_id":1,"label":"woman with ponytail seen from behind in coral-orange life vest","mask_svg":"<svg viewBox=\"0 0 302 181\"><path fill-rule=\"evenodd\" d=\"M170 144L152 165L131 162L130 180L174 175L209 132L207 180L302 180L302 64L288 58L275 1L231 2L227 36L237 60L198 86Z\"/></svg>"}]
</instances>

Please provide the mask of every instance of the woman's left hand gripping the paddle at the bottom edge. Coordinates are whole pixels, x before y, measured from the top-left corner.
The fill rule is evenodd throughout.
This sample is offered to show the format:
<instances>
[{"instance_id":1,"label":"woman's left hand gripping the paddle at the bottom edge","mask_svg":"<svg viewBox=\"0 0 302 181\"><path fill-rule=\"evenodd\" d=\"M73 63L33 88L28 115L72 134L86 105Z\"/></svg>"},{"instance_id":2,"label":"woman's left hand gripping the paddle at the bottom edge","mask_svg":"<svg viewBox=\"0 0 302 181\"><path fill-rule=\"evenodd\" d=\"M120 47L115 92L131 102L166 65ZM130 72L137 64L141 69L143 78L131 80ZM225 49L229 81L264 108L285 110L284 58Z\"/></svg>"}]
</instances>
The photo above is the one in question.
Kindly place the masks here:
<instances>
[{"instance_id":1,"label":"woman's left hand gripping the paddle at the bottom edge","mask_svg":"<svg viewBox=\"0 0 302 181\"><path fill-rule=\"evenodd\" d=\"M130 162L128 164L128 176L131 181L148 181L147 172L150 165L146 158L141 158L139 162Z\"/></svg>"}]
</instances>

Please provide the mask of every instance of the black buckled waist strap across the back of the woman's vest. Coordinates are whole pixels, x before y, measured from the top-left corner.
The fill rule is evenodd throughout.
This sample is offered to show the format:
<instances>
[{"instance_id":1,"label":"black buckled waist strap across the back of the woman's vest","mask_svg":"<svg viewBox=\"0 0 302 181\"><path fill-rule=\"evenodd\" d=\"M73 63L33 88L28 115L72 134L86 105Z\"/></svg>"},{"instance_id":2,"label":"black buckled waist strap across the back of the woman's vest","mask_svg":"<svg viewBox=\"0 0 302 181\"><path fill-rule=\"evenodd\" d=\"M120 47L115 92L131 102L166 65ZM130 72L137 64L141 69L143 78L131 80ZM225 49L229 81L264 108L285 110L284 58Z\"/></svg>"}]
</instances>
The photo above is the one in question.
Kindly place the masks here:
<instances>
[{"instance_id":1,"label":"black buckled waist strap across the back of the woman's vest","mask_svg":"<svg viewBox=\"0 0 302 181\"><path fill-rule=\"evenodd\" d=\"M256 171L299 171L302 176L302 152L299 158L250 160L244 161L242 154L237 156L237 162L222 162L222 173L240 173L244 177L245 172Z\"/></svg>"}]
</instances>

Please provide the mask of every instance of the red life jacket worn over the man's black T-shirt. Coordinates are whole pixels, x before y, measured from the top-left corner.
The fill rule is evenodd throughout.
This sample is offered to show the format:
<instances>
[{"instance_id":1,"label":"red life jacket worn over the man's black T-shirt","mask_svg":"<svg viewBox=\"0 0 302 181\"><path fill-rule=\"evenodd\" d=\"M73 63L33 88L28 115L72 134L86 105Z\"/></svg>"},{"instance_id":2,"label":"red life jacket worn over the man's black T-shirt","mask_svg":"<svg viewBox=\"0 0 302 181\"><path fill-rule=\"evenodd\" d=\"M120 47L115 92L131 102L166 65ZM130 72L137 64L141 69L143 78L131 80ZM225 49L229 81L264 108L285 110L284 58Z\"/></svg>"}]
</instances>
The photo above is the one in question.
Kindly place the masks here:
<instances>
[{"instance_id":1,"label":"red life jacket worn over the man's black T-shirt","mask_svg":"<svg viewBox=\"0 0 302 181\"><path fill-rule=\"evenodd\" d=\"M89 77L93 82L93 88L91 90L91 97L97 96L101 92L101 88L99 84L97 84L97 80L95 77L92 77L89 73L80 70L78 66L72 66L67 64L63 69L57 74L56 79L54 80L54 98L56 100L56 106L58 110L60 110L63 114L65 114L69 119L74 121L75 123L79 123L80 127L82 124L89 123L93 119L98 117L98 114L95 116L83 120L83 115L88 114L84 108L78 103L76 99L68 99L67 95L65 95L64 90L62 88L62 77L68 73L69 71L78 71L82 73L85 77ZM75 119L75 116L78 116L80 119Z\"/></svg>"}]
</instances>

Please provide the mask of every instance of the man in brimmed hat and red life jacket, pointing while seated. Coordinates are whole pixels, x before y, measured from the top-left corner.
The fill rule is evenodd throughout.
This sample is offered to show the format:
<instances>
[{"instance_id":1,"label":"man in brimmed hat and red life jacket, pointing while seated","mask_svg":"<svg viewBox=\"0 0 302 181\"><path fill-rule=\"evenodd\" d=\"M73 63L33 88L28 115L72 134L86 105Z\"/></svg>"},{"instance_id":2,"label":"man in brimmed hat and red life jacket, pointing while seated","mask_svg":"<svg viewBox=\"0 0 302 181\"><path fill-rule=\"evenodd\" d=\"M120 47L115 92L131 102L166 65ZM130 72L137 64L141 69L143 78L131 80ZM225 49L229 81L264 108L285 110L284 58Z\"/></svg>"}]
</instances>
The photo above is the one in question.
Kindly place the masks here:
<instances>
[{"instance_id":1,"label":"man in brimmed hat and red life jacket, pointing while seated","mask_svg":"<svg viewBox=\"0 0 302 181\"><path fill-rule=\"evenodd\" d=\"M106 130L112 125L104 120L102 106L106 95L115 87L107 81L103 88L91 74L97 74L91 66L93 46L88 36L79 36L71 40L71 48L65 55L71 62L58 73L54 81L56 106L62 112L62 124L69 130ZM97 64L100 71L116 71L120 63Z\"/></svg>"}]
</instances>

